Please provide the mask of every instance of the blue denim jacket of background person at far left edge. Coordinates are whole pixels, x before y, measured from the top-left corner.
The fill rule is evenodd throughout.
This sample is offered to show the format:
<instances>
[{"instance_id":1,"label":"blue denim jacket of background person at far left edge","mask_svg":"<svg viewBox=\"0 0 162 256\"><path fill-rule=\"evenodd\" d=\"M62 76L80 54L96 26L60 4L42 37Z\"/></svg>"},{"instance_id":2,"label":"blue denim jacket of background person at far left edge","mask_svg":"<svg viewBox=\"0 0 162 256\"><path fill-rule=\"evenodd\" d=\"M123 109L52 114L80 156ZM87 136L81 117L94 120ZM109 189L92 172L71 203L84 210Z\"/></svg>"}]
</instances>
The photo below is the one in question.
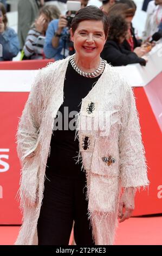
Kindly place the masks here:
<instances>
[{"instance_id":1,"label":"blue denim jacket of background person at far left edge","mask_svg":"<svg viewBox=\"0 0 162 256\"><path fill-rule=\"evenodd\" d=\"M14 29L7 27L0 33L0 61L12 60L20 51L18 36Z\"/></svg>"}]
</instances>

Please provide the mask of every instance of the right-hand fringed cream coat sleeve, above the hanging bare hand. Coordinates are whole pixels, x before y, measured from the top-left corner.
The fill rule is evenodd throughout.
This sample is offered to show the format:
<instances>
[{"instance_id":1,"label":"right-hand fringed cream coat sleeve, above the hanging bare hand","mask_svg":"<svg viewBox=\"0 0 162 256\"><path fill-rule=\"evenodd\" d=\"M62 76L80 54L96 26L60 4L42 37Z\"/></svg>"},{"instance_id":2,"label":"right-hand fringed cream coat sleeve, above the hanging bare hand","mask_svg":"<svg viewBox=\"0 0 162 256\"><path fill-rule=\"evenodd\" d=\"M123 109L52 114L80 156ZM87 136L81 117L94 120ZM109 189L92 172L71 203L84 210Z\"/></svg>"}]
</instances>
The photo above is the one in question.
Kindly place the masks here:
<instances>
[{"instance_id":1,"label":"right-hand fringed cream coat sleeve, above the hanging bare hand","mask_svg":"<svg viewBox=\"0 0 162 256\"><path fill-rule=\"evenodd\" d=\"M127 84L121 107L122 129L119 138L122 187L147 186L145 151L141 141L139 118L132 88Z\"/></svg>"}]
</instances>

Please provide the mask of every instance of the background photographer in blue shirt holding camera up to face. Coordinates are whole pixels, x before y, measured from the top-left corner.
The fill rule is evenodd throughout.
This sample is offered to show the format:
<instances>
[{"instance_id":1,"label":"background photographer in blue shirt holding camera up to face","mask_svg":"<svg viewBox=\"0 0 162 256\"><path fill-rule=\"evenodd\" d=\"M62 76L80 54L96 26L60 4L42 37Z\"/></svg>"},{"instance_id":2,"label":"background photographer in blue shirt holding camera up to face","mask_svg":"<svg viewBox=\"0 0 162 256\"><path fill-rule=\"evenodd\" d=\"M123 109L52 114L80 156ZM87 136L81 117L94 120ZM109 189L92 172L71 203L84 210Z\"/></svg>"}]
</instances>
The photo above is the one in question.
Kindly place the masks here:
<instances>
[{"instance_id":1,"label":"background photographer in blue shirt holding camera up to face","mask_svg":"<svg viewBox=\"0 0 162 256\"><path fill-rule=\"evenodd\" d=\"M81 0L80 2L81 9L88 3L87 0ZM71 12L68 11L66 16L60 15L59 20L54 20L49 23L44 44L44 54L46 58L59 60L69 55L70 22L68 22L68 18L70 20L70 14Z\"/></svg>"}]
</instances>

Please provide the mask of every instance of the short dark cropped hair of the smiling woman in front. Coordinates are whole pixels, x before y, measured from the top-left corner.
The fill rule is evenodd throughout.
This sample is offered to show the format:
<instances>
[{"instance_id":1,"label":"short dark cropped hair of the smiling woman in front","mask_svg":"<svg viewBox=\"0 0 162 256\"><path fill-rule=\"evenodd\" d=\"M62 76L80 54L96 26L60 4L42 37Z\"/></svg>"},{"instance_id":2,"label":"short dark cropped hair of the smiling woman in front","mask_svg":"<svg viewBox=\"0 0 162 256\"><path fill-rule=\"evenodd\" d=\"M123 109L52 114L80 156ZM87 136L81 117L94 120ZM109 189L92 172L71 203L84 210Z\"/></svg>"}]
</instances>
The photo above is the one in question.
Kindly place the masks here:
<instances>
[{"instance_id":1,"label":"short dark cropped hair of the smiling woman in front","mask_svg":"<svg viewBox=\"0 0 162 256\"><path fill-rule=\"evenodd\" d=\"M79 23L85 20L102 21L105 37L107 37L109 31L109 18L107 13L101 11L98 7L95 7L94 5L89 5L83 9L80 9L79 11L77 11L75 17L72 20L73 34L76 31Z\"/></svg>"}]
</instances>

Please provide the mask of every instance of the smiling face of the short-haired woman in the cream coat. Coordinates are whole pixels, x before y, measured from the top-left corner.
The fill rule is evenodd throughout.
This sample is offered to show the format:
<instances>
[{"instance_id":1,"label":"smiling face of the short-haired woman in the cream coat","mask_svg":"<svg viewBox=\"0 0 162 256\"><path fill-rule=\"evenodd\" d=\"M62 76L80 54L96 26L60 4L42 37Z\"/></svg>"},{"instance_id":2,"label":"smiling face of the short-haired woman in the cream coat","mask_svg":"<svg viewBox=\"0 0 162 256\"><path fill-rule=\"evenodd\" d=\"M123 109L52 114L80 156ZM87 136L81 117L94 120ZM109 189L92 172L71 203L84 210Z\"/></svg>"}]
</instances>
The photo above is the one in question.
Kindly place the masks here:
<instances>
[{"instance_id":1,"label":"smiling face of the short-haired woman in the cream coat","mask_svg":"<svg viewBox=\"0 0 162 256\"><path fill-rule=\"evenodd\" d=\"M80 58L95 58L100 56L106 42L102 21L81 21L74 35L72 29L70 32L75 51Z\"/></svg>"}]
</instances>

